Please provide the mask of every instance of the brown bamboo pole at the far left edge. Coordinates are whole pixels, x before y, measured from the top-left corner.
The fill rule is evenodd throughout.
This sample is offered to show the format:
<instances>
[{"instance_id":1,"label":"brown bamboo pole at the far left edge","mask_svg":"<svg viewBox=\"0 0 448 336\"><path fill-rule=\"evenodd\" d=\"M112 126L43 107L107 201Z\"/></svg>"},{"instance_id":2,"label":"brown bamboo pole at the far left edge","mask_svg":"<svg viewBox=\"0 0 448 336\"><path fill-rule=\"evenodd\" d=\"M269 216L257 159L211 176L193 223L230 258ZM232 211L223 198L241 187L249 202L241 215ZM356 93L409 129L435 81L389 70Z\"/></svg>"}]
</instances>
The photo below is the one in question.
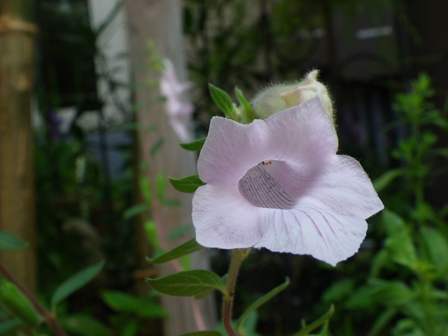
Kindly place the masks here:
<instances>
[{"instance_id":1,"label":"brown bamboo pole at the far left edge","mask_svg":"<svg viewBox=\"0 0 448 336\"><path fill-rule=\"evenodd\" d=\"M0 1L0 230L27 241L1 252L10 272L36 290L31 87L36 27L32 0Z\"/></svg>"}]
</instances>

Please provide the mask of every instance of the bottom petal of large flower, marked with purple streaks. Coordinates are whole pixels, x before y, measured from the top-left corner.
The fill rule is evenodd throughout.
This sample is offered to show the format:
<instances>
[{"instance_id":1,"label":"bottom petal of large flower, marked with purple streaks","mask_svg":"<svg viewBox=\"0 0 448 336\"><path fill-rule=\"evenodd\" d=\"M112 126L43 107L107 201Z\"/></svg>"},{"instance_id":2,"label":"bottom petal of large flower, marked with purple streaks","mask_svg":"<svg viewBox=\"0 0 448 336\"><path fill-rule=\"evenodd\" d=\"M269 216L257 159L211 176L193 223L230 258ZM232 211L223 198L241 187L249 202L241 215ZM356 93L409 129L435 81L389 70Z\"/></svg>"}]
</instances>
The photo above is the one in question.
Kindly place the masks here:
<instances>
[{"instance_id":1,"label":"bottom petal of large flower, marked with purple streaks","mask_svg":"<svg viewBox=\"0 0 448 336\"><path fill-rule=\"evenodd\" d=\"M367 223L314 207L270 209L264 235L255 248L309 254L335 266L358 251Z\"/></svg>"}]
</instances>

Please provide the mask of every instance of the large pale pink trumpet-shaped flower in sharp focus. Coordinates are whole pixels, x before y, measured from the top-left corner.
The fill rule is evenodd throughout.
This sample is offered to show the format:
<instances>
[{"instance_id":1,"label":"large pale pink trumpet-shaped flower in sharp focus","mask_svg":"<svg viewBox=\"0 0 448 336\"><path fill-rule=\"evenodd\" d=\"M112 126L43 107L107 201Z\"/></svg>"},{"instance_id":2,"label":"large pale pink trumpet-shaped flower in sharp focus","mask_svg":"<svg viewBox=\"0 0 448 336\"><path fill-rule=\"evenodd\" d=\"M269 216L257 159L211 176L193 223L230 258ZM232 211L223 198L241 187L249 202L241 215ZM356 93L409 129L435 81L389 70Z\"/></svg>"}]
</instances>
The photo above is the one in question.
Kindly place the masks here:
<instances>
[{"instance_id":1,"label":"large pale pink trumpet-shaped flower in sharp focus","mask_svg":"<svg viewBox=\"0 0 448 336\"><path fill-rule=\"evenodd\" d=\"M365 219L383 209L360 164L337 155L318 97L241 125L214 117L197 169L196 239L216 248L265 247L336 265L358 251Z\"/></svg>"}]
</instances>

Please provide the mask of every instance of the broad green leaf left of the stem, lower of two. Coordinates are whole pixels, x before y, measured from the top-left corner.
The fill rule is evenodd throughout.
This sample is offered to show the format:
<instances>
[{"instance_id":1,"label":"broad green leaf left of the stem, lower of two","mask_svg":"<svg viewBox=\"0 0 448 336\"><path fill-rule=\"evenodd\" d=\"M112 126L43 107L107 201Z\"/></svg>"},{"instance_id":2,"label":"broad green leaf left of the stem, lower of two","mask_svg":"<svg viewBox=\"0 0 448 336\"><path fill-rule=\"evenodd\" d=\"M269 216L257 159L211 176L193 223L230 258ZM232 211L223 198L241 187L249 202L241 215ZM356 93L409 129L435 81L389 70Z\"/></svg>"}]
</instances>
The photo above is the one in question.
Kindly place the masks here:
<instances>
[{"instance_id":1,"label":"broad green leaf left of the stem, lower of two","mask_svg":"<svg viewBox=\"0 0 448 336\"><path fill-rule=\"evenodd\" d=\"M174 273L158 279L146 279L146 281L155 290L167 295L193 296L208 288L221 290L228 295L222 279L204 269Z\"/></svg>"}]
</instances>

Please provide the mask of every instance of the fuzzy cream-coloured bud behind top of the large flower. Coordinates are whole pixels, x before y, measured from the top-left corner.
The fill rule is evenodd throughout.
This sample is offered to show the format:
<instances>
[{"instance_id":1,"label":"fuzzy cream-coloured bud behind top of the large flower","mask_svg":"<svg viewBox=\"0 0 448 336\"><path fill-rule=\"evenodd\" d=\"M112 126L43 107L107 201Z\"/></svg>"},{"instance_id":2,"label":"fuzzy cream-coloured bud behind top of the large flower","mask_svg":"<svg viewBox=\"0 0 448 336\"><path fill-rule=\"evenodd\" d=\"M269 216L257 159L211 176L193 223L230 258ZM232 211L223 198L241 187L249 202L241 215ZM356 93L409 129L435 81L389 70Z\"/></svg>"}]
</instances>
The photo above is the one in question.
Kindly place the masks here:
<instances>
[{"instance_id":1,"label":"fuzzy cream-coloured bud behind top of the large flower","mask_svg":"<svg viewBox=\"0 0 448 336\"><path fill-rule=\"evenodd\" d=\"M334 122L330 94L325 85L318 82L317 75L318 70L313 70L307 73L300 82L267 87L252 101L255 114L259 118L266 119L274 113L307 102L318 95L323 108Z\"/></svg>"}]
</instances>

